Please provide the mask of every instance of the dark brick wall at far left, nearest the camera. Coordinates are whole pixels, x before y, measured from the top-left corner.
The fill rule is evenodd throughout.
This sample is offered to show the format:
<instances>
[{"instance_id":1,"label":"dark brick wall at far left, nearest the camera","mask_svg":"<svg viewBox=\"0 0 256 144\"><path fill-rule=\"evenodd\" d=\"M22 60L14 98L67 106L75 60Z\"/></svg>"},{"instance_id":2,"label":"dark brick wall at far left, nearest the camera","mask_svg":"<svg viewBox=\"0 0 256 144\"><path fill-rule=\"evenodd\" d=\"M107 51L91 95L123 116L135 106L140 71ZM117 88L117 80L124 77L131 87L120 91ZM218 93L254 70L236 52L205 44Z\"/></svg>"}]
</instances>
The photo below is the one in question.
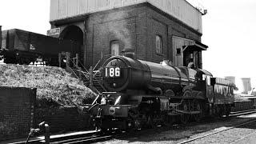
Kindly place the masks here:
<instances>
[{"instance_id":1,"label":"dark brick wall at far left, nearest the camera","mask_svg":"<svg viewBox=\"0 0 256 144\"><path fill-rule=\"evenodd\" d=\"M35 89L0 87L0 140L29 134L35 97Z\"/></svg>"}]
</instances>

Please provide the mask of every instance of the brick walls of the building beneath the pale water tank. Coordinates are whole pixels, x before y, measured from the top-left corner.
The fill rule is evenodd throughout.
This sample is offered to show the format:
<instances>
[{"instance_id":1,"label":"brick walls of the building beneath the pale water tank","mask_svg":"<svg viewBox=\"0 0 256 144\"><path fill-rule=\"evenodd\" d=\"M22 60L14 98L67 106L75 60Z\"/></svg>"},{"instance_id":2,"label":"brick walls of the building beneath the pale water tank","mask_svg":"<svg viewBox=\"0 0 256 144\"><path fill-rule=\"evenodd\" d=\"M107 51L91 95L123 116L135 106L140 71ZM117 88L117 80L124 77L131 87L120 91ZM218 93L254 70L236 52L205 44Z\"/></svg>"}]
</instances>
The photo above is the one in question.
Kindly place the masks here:
<instances>
[{"instance_id":1,"label":"brick walls of the building beneath the pale water tank","mask_svg":"<svg viewBox=\"0 0 256 144\"><path fill-rule=\"evenodd\" d=\"M149 3L126 6L113 10L88 14L52 22L52 27L70 25L84 26L86 67L94 66L101 53L110 54L110 42L119 41L119 51L132 48L136 58L161 62L163 58L173 59L172 37L179 36L201 41L197 30L158 10ZM163 38L163 54L156 54L155 35Z\"/></svg>"}]
</instances>

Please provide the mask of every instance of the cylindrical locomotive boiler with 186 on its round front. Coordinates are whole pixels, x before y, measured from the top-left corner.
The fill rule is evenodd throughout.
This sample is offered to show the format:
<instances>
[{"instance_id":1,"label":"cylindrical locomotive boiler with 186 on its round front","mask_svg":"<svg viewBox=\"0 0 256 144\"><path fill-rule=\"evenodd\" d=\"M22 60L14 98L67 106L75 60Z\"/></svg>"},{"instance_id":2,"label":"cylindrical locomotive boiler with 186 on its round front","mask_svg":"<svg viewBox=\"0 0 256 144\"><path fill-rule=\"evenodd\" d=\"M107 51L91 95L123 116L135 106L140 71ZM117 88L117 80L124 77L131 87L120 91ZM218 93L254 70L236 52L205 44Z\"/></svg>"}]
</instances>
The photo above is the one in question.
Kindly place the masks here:
<instances>
[{"instance_id":1,"label":"cylindrical locomotive boiler with 186 on its round front","mask_svg":"<svg viewBox=\"0 0 256 144\"><path fill-rule=\"evenodd\" d=\"M178 93L183 86L194 85L196 74L192 69L127 57L110 58L103 67L103 85L110 91L151 90L162 93L162 90L174 90Z\"/></svg>"}]
</instances>

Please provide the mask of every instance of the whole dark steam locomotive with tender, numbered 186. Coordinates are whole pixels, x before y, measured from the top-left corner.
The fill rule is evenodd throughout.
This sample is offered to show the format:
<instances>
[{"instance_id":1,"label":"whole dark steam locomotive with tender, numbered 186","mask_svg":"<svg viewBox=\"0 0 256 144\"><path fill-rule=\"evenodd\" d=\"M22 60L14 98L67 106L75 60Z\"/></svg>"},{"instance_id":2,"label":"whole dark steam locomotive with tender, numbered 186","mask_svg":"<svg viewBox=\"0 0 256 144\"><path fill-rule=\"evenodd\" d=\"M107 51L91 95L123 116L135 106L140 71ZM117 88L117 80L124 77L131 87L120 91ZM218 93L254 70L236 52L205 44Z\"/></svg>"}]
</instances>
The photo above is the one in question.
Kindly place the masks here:
<instances>
[{"instance_id":1,"label":"whole dark steam locomotive with tender, numbered 186","mask_svg":"<svg viewBox=\"0 0 256 144\"><path fill-rule=\"evenodd\" d=\"M173 122L200 121L230 114L234 84L206 70L168 66L124 56L101 69L106 92L82 107L96 129L140 129Z\"/></svg>"}]
</instances>

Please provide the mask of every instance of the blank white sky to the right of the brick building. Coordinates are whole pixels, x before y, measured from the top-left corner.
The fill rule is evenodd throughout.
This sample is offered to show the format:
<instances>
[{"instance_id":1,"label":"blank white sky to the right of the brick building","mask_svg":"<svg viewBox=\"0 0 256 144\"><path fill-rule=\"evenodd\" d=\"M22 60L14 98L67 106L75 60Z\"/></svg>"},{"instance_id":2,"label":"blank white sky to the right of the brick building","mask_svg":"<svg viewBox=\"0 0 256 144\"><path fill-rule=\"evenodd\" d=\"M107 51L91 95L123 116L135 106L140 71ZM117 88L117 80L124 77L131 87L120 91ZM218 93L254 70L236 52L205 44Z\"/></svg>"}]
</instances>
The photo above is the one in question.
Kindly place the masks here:
<instances>
[{"instance_id":1,"label":"blank white sky to the right of the brick building","mask_svg":"<svg viewBox=\"0 0 256 144\"><path fill-rule=\"evenodd\" d=\"M203 68L218 77L252 78L256 86L256 1L204 0L208 14L202 16Z\"/></svg>"}]
</instances>

